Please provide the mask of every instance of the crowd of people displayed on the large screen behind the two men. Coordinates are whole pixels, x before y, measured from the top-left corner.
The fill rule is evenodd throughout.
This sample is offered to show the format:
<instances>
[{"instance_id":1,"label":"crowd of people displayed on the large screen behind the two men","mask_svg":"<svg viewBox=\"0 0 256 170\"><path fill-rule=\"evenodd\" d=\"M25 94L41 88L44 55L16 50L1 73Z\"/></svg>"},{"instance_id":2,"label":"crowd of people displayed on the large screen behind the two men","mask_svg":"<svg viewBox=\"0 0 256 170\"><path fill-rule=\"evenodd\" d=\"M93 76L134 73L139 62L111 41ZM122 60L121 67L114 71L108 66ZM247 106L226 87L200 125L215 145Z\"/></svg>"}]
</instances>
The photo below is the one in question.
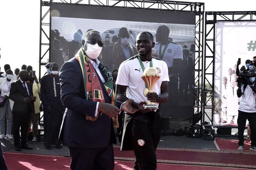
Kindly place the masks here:
<instances>
[{"instance_id":1,"label":"crowd of people displayed on the large screen behind the two men","mask_svg":"<svg viewBox=\"0 0 256 170\"><path fill-rule=\"evenodd\" d=\"M91 29L86 32L91 31ZM167 63L169 78L169 99L162 104L162 115L171 117L167 108L170 106L185 105L193 107L194 104L194 63L195 45L187 44L181 46L170 37L170 28L166 25L157 27L154 39L156 45L152 48L152 56L164 60ZM98 60L108 68L109 71L118 70L120 64L132 56L138 54L133 39L138 33L128 30L126 27L119 29L118 35L111 37L110 33L104 33L102 50ZM54 36L55 35L55 36ZM62 65L79 51L83 32L77 30L74 39L68 42L60 36L58 30L52 30L51 59ZM102 34L103 35L103 34ZM61 51L61 52L59 52ZM56 54L59 55L56 55ZM173 116L173 115L172 115Z\"/></svg>"}]
</instances>

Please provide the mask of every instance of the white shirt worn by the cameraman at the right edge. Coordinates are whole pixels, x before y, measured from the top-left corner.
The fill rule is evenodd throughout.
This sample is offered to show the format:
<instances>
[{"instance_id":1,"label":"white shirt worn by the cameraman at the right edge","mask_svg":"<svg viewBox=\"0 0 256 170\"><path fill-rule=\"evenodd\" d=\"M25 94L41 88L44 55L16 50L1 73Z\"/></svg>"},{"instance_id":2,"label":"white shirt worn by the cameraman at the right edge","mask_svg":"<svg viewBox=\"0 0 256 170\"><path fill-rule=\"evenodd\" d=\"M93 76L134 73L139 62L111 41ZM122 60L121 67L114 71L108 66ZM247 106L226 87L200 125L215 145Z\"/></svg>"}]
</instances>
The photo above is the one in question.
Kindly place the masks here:
<instances>
[{"instance_id":1,"label":"white shirt worn by the cameraman at the right edge","mask_svg":"<svg viewBox=\"0 0 256 170\"><path fill-rule=\"evenodd\" d=\"M241 91L243 92L244 85L241 86ZM256 94L252 91L252 88L247 85L244 94L241 96L239 109L240 111L253 113L256 112Z\"/></svg>"}]
</instances>

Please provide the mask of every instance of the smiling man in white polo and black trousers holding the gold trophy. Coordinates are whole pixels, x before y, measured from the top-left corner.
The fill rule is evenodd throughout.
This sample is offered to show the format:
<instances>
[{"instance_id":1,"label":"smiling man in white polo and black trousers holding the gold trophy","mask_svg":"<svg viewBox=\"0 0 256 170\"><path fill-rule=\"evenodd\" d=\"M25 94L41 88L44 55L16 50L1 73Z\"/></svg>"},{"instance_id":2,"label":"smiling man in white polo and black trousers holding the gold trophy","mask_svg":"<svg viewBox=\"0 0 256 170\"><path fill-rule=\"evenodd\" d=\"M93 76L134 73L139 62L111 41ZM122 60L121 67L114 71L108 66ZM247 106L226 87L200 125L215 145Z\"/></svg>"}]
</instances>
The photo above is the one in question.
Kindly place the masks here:
<instances>
[{"instance_id":1,"label":"smiling man in white polo and black trousers holding the gold trophy","mask_svg":"<svg viewBox=\"0 0 256 170\"><path fill-rule=\"evenodd\" d=\"M138 55L125 60L119 67L116 80L116 99L133 99L130 105L139 109L134 114L125 113L121 150L133 150L136 156L134 170L156 169L156 147L161 137L161 117L158 110L144 109L146 102L165 103L168 100L168 67L158 58L152 57L155 46L150 32L141 32L136 38ZM154 93L146 96L145 82L141 79L143 71L154 67L161 75L156 82ZM127 96L124 96L126 91Z\"/></svg>"}]
</instances>

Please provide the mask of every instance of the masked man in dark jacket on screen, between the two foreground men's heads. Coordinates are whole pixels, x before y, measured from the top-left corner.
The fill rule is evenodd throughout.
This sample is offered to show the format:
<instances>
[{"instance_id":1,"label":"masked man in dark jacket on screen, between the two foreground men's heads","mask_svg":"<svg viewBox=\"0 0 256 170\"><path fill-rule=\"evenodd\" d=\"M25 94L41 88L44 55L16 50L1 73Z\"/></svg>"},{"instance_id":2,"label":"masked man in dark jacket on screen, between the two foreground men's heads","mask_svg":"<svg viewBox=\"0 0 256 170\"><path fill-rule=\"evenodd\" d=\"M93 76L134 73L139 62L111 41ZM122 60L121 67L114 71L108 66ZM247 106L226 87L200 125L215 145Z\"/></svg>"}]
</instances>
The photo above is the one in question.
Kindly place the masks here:
<instances>
[{"instance_id":1,"label":"masked man in dark jacket on screen, between the two foreground men's heads","mask_svg":"<svg viewBox=\"0 0 256 170\"><path fill-rule=\"evenodd\" d=\"M119 34L118 34L118 41L113 46L113 53L112 53L113 69L118 69L120 64L124 60L127 60L130 57L138 54L136 47L132 46L129 40L130 40L130 33L127 30L127 28L125 27L120 28Z\"/></svg>"}]
</instances>

